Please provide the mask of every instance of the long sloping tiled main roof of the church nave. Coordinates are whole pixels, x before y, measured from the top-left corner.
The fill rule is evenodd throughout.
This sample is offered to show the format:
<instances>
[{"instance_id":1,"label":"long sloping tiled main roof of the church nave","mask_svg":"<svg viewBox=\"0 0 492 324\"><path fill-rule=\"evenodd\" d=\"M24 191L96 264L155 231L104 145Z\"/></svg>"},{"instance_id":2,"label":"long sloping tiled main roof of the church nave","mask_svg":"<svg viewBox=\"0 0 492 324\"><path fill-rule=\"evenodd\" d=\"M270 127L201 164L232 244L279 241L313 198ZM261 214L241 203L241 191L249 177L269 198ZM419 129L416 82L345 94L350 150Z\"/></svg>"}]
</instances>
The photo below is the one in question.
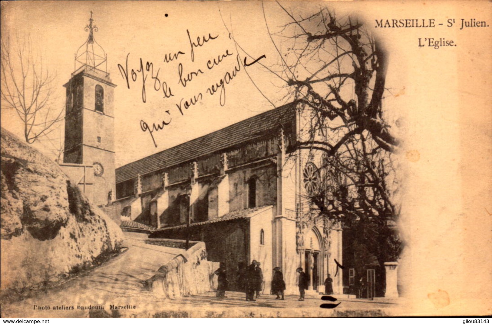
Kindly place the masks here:
<instances>
[{"instance_id":1,"label":"long sloping tiled main roof of the church nave","mask_svg":"<svg viewBox=\"0 0 492 324\"><path fill-rule=\"evenodd\" d=\"M296 103L290 103L268 110L213 133L125 164L116 169L116 183L135 178L138 173L151 173L262 137L279 129L280 125L291 122L295 116L295 106Z\"/></svg>"}]
</instances>

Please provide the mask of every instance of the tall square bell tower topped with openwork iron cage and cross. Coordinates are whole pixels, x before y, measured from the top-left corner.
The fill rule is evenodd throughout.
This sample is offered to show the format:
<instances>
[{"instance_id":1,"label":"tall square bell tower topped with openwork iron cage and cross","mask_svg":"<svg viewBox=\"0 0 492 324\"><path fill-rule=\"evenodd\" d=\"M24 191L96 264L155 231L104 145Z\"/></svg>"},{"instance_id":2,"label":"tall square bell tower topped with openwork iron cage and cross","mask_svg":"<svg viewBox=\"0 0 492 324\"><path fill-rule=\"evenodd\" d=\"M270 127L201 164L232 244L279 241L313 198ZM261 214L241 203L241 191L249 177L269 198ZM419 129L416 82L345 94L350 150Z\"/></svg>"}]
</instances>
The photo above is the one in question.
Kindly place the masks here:
<instances>
[{"instance_id":1,"label":"tall square bell tower topped with openwork iron cage and cross","mask_svg":"<svg viewBox=\"0 0 492 324\"><path fill-rule=\"evenodd\" d=\"M84 192L89 186L86 194L93 203L102 205L114 199L116 192L113 103L116 84L107 72L107 55L94 38L98 28L93 24L92 11L85 30L89 36L77 50L74 72L64 84L63 163L84 167ZM88 179L92 180L88 183Z\"/></svg>"}]
</instances>

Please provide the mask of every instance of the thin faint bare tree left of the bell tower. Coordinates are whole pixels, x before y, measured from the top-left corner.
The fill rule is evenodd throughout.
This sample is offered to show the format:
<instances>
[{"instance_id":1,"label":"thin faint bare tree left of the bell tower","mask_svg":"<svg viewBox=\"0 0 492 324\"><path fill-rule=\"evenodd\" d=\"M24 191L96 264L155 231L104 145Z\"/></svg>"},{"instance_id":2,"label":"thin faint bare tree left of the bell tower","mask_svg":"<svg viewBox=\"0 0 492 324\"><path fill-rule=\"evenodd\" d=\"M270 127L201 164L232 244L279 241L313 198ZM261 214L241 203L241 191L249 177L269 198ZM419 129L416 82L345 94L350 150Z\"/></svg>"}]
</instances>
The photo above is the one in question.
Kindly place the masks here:
<instances>
[{"instance_id":1,"label":"thin faint bare tree left of the bell tower","mask_svg":"<svg viewBox=\"0 0 492 324\"><path fill-rule=\"evenodd\" d=\"M13 46L12 46L13 45ZM26 142L32 144L53 131L63 119L63 108L54 109L54 76L40 56L33 54L29 36L1 39L2 109L14 109L24 124Z\"/></svg>"}]
</instances>

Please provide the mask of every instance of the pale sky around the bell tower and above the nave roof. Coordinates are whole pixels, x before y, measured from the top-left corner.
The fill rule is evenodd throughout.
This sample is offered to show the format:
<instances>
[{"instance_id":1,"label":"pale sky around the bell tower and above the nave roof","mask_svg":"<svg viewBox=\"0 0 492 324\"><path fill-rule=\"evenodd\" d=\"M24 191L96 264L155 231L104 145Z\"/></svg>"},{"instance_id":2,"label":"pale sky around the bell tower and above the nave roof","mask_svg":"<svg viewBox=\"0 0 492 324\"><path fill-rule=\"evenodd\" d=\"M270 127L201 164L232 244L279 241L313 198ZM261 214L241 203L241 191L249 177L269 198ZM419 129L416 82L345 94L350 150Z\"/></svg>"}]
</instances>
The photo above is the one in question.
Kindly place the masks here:
<instances>
[{"instance_id":1,"label":"pale sky around the bell tower and above the nave roof","mask_svg":"<svg viewBox=\"0 0 492 324\"><path fill-rule=\"evenodd\" d=\"M284 4L300 15L316 10L318 5ZM117 166L287 103L285 89L280 87L282 81L265 72L259 64L237 72L224 87L225 98L221 98L220 90L213 95L207 92L238 66L238 53L241 60L247 56L247 63L262 55L265 57L261 62L267 66L279 61L265 19L270 31L277 31L290 20L275 2L254 1L239 5L233 2L30 1L27 5L21 1L9 3L6 8L2 25L9 28L2 28L6 29L3 34L31 36L36 53L42 55L49 70L56 74L54 107L61 108L65 101L62 85L74 71L74 54L87 40L88 32L84 27L89 23L90 11L93 12L93 24L98 27L94 38L107 54L107 70L112 82L118 85L114 99ZM236 48L229 33L249 56ZM190 40L196 43L197 37L203 45L193 47L191 60ZM204 39L209 41L204 42ZM278 39L276 41L281 47ZM164 62L166 55L169 58L173 54L178 57ZM145 102L142 98L144 76L138 74L136 81L131 80L131 70L139 70L140 59L143 66L147 62L153 63L154 77L161 88L159 91L153 89L157 85L147 73ZM207 61L213 63L214 59L217 64L208 69ZM184 82L180 83L180 63L182 79L191 79L186 86L183 86ZM128 75L128 85L122 71ZM162 82L171 89L173 96L168 93L169 98L164 98ZM202 98L185 109L185 101L189 102L199 93ZM2 111L2 114L7 116L2 119L8 120L2 121L2 126L22 135L16 117L8 111ZM151 129L153 124L162 126L163 121L169 124L151 135L142 131L142 121ZM62 129L63 125L51 136L63 134ZM44 142L38 146L43 150L50 145Z\"/></svg>"}]
</instances>

